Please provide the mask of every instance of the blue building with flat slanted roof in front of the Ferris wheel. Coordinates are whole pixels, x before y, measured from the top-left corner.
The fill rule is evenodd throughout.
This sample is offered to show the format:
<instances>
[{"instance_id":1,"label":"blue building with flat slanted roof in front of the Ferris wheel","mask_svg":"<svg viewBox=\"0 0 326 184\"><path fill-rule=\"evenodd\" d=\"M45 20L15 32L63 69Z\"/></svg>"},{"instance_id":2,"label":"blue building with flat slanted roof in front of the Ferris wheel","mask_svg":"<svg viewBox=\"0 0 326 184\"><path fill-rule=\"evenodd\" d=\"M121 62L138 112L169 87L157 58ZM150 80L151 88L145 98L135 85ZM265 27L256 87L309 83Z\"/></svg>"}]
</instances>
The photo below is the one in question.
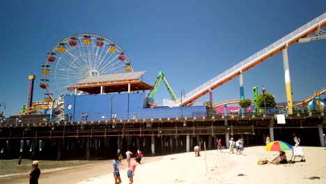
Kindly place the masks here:
<instances>
[{"instance_id":1,"label":"blue building with flat slanted roof in front of the Ferris wheel","mask_svg":"<svg viewBox=\"0 0 326 184\"><path fill-rule=\"evenodd\" d=\"M146 98L145 91L153 86L139 80L143 73L88 77L68 87L75 95L65 95L65 116L72 122L205 116L203 105L152 107L150 103L154 100Z\"/></svg>"}]
</instances>

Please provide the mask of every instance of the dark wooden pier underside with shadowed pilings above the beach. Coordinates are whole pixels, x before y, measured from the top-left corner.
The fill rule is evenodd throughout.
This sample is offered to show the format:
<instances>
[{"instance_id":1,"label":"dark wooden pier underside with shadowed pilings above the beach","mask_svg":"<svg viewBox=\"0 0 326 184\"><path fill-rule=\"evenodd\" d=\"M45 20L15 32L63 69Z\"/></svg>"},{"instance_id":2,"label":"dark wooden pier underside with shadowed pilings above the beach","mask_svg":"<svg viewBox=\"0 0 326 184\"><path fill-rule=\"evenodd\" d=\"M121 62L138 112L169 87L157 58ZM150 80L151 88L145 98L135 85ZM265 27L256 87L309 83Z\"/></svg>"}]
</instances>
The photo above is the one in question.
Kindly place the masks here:
<instances>
[{"instance_id":1,"label":"dark wooden pier underside with shadowed pilings above the beach","mask_svg":"<svg viewBox=\"0 0 326 184\"><path fill-rule=\"evenodd\" d=\"M293 142L300 135L302 145L325 146L324 112L286 115L278 124L275 114L194 116L178 118L114 119L111 121L59 121L49 123L45 114L15 116L0 123L0 158L66 160L104 159L137 149L144 155L192 151L196 145L216 148L217 138L228 147L228 139L243 138L245 146L271 141Z\"/></svg>"}]
</instances>

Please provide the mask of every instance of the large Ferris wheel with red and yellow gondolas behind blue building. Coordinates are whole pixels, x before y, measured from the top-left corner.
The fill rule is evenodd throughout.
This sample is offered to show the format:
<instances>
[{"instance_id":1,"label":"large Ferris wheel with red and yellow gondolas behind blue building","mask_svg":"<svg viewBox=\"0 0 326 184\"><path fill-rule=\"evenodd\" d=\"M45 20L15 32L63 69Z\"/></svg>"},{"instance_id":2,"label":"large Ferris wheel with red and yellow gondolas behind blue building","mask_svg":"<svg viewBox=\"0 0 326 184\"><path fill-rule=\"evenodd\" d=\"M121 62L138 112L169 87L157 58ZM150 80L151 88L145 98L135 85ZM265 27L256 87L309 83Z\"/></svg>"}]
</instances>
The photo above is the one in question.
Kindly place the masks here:
<instances>
[{"instance_id":1,"label":"large Ferris wheel with red and yellow gondolas behind blue building","mask_svg":"<svg viewBox=\"0 0 326 184\"><path fill-rule=\"evenodd\" d=\"M45 102L71 93L81 79L114 73L133 72L127 54L116 43L93 33L79 33L61 40L48 52L42 65L40 88Z\"/></svg>"}]
</instances>

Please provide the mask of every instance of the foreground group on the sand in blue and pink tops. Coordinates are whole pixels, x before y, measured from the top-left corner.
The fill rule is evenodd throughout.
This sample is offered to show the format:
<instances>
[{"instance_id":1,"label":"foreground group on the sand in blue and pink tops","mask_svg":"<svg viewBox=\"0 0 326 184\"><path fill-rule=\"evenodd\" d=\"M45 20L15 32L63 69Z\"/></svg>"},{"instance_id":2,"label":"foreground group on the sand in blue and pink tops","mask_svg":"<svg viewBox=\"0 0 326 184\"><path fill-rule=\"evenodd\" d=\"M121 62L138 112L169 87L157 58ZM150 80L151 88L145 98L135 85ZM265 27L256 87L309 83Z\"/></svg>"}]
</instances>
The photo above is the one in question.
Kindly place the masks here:
<instances>
[{"instance_id":1,"label":"foreground group on the sand in blue and pink tops","mask_svg":"<svg viewBox=\"0 0 326 184\"><path fill-rule=\"evenodd\" d=\"M127 151L125 153L125 155L127 156L126 161L128 164L128 170L127 170L127 177L129 178L129 183L134 183L134 171L136 170L137 164L141 164L141 158L143 157L143 154L141 153L141 151L138 151L137 153L137 157L134 158L134 161L131 162L131 158L132 158L132 152L131 151ZM118 153L115 155L114 157L114 162L113 162L113 174L114 174L114 183L118 184L121 183L121 177L120 177L120 170L119 170L119 165L121 165L121 160L122 160L122 155L121 153Z\"/></svg>"}]
</instances>

